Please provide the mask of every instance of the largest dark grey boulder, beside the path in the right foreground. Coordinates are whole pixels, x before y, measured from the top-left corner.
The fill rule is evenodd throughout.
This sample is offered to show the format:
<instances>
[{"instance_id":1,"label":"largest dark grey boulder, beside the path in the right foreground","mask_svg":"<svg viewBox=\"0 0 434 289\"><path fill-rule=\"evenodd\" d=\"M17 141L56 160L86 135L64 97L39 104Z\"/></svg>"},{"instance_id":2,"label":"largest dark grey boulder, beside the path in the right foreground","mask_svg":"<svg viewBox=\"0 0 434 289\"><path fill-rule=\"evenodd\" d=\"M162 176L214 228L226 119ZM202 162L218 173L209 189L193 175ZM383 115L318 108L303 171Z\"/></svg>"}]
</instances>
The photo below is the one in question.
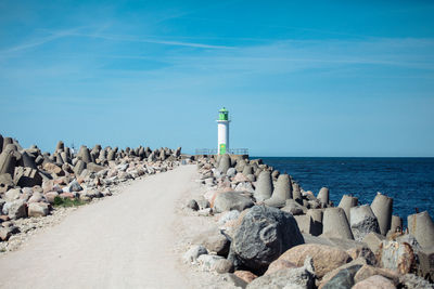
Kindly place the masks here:
<instances>
[{"instance_id":1,"label":"largest dark grey boulder, beside the path in the right foreground","mask_svg":"<svg viewBox=\"0 0 434 289\"><path fill-rule=\"evenodd\" d=\"M255 206L237 227L229 252L238 268L263 274L288 249L304 244L292 214L267 206Z\"/></svg>"}]
</instances>

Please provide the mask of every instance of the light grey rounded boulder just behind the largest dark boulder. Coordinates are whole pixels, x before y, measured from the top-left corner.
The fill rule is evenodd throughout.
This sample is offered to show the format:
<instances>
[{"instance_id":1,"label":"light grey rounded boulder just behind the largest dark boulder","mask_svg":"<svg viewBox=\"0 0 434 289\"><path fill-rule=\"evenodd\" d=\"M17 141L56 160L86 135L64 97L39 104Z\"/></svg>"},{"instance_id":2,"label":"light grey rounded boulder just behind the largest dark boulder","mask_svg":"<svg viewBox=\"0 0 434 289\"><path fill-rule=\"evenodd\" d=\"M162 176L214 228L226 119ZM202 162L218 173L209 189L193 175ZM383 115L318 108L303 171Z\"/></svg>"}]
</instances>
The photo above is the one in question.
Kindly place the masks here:
<instances>
[{"instance_id":1,"label":"light grey rounded boulder just behind the largest dark boulder","mask_svg":"<svg viewBox=\"0 0 434 289\"><path fill-rule=\"evenodd\" d=\"M250 197L240 192L225 192L217 195L214 200L214 210L225 212L231 210L243 211L253 207L254 203Z\"/></svg>"}]
</instances>

